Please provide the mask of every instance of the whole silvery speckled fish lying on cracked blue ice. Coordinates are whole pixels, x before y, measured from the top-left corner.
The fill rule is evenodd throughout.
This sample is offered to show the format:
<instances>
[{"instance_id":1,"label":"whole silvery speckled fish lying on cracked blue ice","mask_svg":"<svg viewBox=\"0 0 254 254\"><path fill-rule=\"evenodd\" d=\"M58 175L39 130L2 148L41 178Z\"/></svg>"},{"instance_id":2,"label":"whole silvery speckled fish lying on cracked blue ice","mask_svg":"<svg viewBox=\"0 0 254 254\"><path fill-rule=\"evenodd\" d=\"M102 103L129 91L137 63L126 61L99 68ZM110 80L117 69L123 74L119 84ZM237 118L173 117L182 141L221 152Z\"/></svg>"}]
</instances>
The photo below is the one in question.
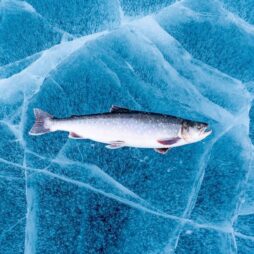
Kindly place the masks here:
<instances>
[{"instance_id":1,"label":"whole silvery speckled fish lying on cracked blue ice","mask_svg":"<svg viewBox=\"0 0 254 254\"><path fill-rule=\"evenodd\" d=\"M56 118L34 109L30 135L65 131L72 139L90 139L108 149L152 148L166 154L171 148L195 143L212 133L208 124L176 116L131 110L113 105L109 112Z\"/></svg>"}]
</instances>

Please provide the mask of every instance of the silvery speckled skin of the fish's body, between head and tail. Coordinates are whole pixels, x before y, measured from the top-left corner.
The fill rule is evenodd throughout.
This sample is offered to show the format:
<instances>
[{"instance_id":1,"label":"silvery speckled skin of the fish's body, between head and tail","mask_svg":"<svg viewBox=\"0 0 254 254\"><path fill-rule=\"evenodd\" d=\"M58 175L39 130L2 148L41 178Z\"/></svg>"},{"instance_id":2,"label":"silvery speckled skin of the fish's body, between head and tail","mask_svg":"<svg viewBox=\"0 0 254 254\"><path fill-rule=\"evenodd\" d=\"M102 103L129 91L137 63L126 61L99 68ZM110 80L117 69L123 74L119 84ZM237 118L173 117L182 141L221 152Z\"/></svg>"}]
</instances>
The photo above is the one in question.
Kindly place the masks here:
<instances>
[{"instance_id":1,"label":"silvery speckled skin of the fish's body, between head and tail","mask_svg":"<svg viewBox=\"0 0 254 254\"><path fill-rule=\"evenodd\" d=\"M41 112L47 116L45 112ZM118 148L115 145L117 143L121 143L119 148L171 148L193 143L181 136L183 123L186 121L192 125L199 123L159 113L131 111L126 108L121 111L120 107L116 107L115 112L62 119L48 117L43 123L43 128L49 129L50 132L67 131L72 137L112 144L112 148ZM44 133L38 133L38 130L34 133L33 129L30 131L31 135ZM159 142L160 140L169 142ZM175 140L175 143L172 140ZM197 141L199 139L196 138L194 142Z\"/></svg>"}]
</instances>

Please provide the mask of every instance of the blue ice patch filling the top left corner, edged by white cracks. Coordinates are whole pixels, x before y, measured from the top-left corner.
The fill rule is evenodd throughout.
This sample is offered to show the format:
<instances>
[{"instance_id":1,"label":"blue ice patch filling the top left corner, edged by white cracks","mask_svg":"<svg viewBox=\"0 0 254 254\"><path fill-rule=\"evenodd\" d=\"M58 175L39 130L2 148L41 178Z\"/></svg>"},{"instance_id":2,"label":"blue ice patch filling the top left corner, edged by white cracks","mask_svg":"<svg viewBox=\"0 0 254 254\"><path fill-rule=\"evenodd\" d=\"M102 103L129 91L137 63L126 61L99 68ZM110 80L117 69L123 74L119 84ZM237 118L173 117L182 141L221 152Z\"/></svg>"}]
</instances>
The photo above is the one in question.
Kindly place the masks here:
<instances>
[{"instance_id":1,"label":"blue ice patch filling the top left corner, edged by white cracks","mask_svg":"<svg viewBox=\"0 0 254 254\"><path fill-rule=\"evenodd\" d=\"M3 0L0 8L0 65L10 64L60 42L59 31L26 2Z\"/></svg>"}]
</instances>

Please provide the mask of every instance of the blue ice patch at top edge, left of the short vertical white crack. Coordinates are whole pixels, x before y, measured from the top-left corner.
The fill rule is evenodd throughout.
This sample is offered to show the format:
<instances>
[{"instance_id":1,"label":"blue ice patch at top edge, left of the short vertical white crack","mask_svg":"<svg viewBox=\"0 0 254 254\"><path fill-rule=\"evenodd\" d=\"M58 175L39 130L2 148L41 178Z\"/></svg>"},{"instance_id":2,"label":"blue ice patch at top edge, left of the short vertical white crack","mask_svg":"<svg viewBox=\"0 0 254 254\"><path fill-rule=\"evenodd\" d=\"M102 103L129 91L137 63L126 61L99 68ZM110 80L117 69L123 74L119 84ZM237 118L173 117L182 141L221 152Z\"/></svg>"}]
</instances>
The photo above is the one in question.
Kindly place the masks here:
<instances>
[{"instance_id":1,"label":"blue ice patch at top edge, left of the short vertical white crack","mask_svg":"<svg viewBox=\"0 0 254 254\"><path fill-rule=\"evenodd\" d=\"M119 0L28 0L52 26L72 35L112 29L120 23Z\"/></svg>"}]
</instances>

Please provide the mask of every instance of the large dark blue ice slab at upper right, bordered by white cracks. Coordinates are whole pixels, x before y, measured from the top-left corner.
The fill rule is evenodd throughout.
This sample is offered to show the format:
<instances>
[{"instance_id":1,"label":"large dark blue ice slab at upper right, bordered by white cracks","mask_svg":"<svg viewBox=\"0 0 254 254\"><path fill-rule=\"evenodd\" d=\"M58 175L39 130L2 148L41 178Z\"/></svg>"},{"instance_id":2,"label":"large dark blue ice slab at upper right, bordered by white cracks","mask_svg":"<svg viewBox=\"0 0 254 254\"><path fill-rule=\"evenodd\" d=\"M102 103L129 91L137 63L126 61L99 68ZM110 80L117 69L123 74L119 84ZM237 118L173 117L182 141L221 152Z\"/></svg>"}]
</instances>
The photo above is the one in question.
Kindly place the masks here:
<instances>
[{"instance_id":1,"label":"large dark blue ice slab at upper right, bordered by white cracks","mask_svg":"<svg viewBox=\"0 0 254 254\"><path fill-rule=\"evenodd\" d=\"M219 1L177 2L157 19L195 58L244 82L253 80L254 28Z\"/></svg>"}]
</instances>

